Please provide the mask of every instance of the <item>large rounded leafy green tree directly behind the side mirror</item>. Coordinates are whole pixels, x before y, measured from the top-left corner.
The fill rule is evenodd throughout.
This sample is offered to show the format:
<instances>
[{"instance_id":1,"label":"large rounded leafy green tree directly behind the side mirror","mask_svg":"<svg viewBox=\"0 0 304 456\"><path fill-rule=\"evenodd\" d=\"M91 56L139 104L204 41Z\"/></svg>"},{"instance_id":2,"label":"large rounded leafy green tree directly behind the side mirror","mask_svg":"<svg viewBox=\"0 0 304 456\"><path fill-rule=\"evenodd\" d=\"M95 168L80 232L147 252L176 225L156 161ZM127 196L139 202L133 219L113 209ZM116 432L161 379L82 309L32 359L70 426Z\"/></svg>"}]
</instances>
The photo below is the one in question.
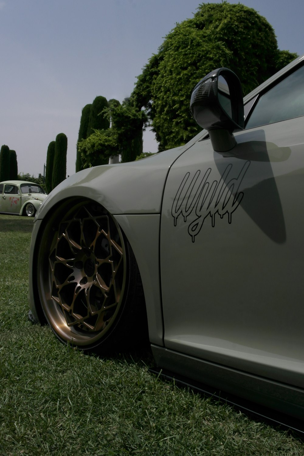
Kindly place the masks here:
<instances>
[{"instance_id":1,"label":"large rounded leafy green tree directly behind the side mirror","mask_svg":"<svg viewBox=\"0 0 304 456\"><path fill-rule=\"evenodd\" d=\"M205 3L177 24L138 77L131 98L144 107L159 150L190 140L200 129L189 114L196 83L218 67L239 76L244 93L275 73L296 54L279 51L272 26L241 4Z\"/></svg>"}]
</instances>

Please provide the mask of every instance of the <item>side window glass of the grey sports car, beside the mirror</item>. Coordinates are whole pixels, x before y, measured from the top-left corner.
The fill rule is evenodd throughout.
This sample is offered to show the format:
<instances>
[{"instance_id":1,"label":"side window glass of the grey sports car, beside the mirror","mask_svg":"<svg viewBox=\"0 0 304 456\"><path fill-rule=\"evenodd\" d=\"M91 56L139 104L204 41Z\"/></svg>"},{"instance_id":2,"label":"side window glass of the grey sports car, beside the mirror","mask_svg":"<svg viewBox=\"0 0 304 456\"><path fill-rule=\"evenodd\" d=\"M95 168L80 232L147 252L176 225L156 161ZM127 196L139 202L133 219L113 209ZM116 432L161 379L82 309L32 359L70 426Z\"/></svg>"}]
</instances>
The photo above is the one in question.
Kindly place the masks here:
<instances>
[{"instance_id":1,"label":"side window glass of the grey sports car, beside the mirror","mask_svg":"<svg viewBox=\"0 0 304 456\"><path fill-rule=\"evenodd\" d=\"M304 66L261 96L245 129L301 115L304 115Z\"/></svg>"}]
</instances>

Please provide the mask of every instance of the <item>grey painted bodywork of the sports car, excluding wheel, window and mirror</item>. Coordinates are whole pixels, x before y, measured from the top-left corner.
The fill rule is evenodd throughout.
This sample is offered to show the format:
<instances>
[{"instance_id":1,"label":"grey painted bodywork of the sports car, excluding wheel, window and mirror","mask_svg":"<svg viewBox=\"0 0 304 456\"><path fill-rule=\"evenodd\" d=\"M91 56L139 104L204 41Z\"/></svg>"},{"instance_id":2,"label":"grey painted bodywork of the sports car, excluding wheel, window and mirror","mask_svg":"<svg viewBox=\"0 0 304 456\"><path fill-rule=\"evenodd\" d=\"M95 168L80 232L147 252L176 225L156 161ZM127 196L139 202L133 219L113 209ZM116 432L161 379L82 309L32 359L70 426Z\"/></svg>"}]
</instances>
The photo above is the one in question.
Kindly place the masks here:
<instances>
[{"instance_id":1,"label":"grey painted bodywork of the sports car, excluding wheel, window and mirror","mask_svg":"<svg viewBox=\"0 0 304 456\"><path fill-rule=\"evenodd\" d=\"M303 59L244 102L254 107ZM48 214L90 198L134 251L158 365L304 419L303 131L304 116L238 131L236 147L219 153L203 130L179 148L62 182L34 223L36 319L35 258Z\"/></svg>"}]
</instances>

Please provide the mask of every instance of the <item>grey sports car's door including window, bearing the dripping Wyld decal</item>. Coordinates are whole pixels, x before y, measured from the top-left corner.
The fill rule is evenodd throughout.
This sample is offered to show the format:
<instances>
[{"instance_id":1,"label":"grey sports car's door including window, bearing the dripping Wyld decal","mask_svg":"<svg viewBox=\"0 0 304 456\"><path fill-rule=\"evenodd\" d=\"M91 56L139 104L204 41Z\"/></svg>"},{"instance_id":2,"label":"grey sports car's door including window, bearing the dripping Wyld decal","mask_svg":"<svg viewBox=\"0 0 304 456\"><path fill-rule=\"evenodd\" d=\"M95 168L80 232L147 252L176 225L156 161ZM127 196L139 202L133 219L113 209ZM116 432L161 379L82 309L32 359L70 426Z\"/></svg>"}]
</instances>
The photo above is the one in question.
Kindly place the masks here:
<instances>
[{"instance_id":1,"label":"grey sports car's door including window, bearing the dripping Wyld decal","mask_svg":"<svg viewBox=\"0 0 304 456\"><path fill-rule=\"evenodd\" d=\"M164 191L165 347L304 387L304 67L259 94L236 147L196 142Z\"/></svg>"}]
</instances>

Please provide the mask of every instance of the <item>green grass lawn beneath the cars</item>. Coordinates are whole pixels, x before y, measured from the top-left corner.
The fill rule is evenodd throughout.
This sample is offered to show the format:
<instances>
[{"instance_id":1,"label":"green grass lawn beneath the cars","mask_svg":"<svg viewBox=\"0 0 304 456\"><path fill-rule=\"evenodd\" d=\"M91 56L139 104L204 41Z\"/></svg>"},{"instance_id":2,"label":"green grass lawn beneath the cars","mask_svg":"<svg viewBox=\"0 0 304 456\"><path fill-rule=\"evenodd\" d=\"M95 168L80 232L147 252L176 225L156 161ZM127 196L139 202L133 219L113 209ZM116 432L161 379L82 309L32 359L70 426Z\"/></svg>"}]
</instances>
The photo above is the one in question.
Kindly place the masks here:
<instances>
[{"instance_id":1,"label":"green grass lawn beneath the cars","mask_svg":"<svg viewBox=\"0 0 304 456\"><path fill-rule=\"evenodd\" d=\"M292 435L27 320L32 219L0 215L0 455L304 455Z\"/></svg>"}]
</instances>

